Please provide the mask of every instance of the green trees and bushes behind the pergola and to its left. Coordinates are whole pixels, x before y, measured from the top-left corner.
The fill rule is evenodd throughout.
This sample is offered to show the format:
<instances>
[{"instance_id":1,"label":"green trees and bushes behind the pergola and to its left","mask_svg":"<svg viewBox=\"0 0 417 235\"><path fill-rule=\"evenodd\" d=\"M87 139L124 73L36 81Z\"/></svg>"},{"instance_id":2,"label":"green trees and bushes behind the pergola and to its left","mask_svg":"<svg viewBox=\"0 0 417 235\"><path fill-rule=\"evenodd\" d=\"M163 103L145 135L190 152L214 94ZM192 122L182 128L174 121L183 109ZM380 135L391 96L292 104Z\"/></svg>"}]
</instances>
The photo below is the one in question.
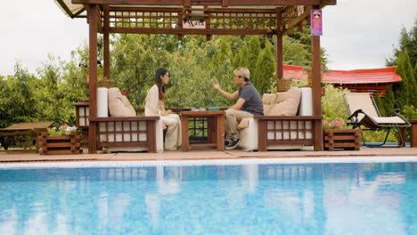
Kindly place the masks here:
<instances>
[{"instance_id":1,"label":"green trees and bushes behind the pergola and to its left","mask_svg":"<svg viewBox=\"0 0 417 235\"><path fill-rule=\"evenodd\" d=\"M284 41L292 42L284 45L285 62L300 66L310 63L310 45L304 45L301 37L285 36ZM233 101L217 93L210 81L216 79L222 89L234 92L238 87L233 84L233 69L245 66L258 90L270 91L274 84L274 42L274 37L266 36L213 36L210 41L205 36L183 36L180 41L174 35L113 35L110 78L113 86L128 93L135 108L142 108L153 85L154 72L165 67L171 77L167 107L228 107ZM299 58L298 53L302 54ZM101 36L98 60L102 61ZM38 121L74 126L76 114L71 104L88 99L88 68L84 66L88 64L87 45L75 48L69 61L50 55L36 74L30 74L20 61L16 62L14 75L0 76L0 127ZM102 67L98 67L98 73L102 77Z\"/></svg>"}]
</instances>

